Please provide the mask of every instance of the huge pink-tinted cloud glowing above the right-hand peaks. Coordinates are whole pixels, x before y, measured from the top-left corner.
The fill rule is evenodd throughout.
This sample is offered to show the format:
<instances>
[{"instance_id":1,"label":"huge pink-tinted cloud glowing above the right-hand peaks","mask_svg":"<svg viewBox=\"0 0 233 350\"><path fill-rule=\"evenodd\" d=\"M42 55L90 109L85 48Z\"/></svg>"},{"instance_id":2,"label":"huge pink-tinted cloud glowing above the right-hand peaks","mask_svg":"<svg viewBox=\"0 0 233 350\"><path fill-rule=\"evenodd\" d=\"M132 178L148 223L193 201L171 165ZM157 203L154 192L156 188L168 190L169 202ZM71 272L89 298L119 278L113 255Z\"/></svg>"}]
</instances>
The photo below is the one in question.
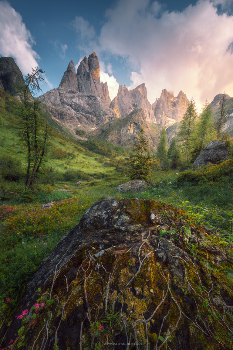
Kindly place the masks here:
<instances>
[{"instance_id":1,"label":"huge pink-tinted cloud glowing above the right-hand peaks","mask_svg":"<svg viewBox=\"0 0 233 350\"><path fill-rule=\"evenodd\" d=\"M233 96L233 16L216 8L225 2L199 0L168 12L158 1L119 0L106 12L100 46L128 59L129 88L144 82L151 103L163 88L175 96L183 90L199 107L224 90Z\"/></svg>"}]
</instances>

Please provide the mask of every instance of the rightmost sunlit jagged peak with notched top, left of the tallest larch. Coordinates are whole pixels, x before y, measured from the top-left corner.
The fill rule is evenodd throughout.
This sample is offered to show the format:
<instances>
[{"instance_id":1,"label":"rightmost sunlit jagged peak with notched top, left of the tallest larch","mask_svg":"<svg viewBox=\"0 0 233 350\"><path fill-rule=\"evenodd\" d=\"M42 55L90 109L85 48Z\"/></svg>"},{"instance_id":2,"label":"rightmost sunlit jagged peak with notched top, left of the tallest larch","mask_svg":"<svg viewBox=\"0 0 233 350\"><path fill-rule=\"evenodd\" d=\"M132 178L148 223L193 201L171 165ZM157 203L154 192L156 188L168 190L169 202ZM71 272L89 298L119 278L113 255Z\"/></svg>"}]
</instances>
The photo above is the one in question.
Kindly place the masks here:
<instances>
[{"instance_id":1,"label":"rightmost sunlit jagged peak with notched top, left of the tallest larch","mask_svg":"<svg viewBox=\"0 0 233 350\"><path fill-rule=\"evenodd\" d=\"M163 125L171 125L180 121L187 110L189 100L187 96L180 91L174 97L173 91L162 90L160 98L153 103L153 112L156 122Z\"/></svg>"}]
</instances>

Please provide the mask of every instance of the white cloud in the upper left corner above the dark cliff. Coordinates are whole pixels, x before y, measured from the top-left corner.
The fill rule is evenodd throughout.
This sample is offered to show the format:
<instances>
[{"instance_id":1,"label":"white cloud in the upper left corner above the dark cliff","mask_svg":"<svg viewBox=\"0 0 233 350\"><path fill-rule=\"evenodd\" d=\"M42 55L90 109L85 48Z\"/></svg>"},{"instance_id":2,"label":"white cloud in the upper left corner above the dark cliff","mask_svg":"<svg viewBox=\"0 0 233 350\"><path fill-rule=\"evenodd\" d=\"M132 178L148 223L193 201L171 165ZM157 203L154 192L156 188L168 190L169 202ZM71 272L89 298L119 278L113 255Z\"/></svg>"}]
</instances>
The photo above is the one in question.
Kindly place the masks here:
<instances>
[{"instance_id":1,"label":"white cloud in the upper left corner above the dark cliff","mask_svg":"<svg viewBox=\"0 0 233 350\"><path fill-rule=\"evenodd\" d=\"M21 15L7 1L0 1L0 54L15 58L26 75L38 65L39 55L32 49L34 44Z\"/></svg>"}]
</instances>

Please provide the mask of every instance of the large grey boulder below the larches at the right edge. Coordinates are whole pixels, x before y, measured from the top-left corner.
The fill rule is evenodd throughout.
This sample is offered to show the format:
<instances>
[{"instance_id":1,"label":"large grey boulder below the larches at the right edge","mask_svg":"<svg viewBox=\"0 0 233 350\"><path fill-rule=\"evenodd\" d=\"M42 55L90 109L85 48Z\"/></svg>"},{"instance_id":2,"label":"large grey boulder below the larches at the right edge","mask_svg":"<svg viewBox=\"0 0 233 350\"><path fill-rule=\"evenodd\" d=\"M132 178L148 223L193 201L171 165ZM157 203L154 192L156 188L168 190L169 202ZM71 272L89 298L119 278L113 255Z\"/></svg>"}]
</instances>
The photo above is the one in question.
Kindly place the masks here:
<instances>
[{"instance_id":1,"label":"large grey boulder below the larches at the right edge","mask_svg":"<svg viewBox=\"0 0 233 350\"><path fill-rule=\"evenodd\" d=\"M227 141L211 141L202 153L198 155L193 163L193 167L203 167L209 164L223 162L230 157L231 151Z\"/></svg>"}]
</instances>

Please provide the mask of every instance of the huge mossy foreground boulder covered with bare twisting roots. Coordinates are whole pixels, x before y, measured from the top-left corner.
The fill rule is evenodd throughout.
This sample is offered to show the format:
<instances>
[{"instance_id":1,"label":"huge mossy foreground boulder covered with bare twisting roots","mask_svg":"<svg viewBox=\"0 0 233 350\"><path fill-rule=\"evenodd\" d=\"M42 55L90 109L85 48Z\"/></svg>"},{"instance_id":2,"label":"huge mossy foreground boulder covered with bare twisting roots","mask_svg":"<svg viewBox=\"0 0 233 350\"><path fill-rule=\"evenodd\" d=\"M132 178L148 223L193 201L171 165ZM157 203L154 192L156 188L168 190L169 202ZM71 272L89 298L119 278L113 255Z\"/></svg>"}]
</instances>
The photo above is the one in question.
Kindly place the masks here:
<instances>
[{"instance_id":1,"label":"huge mossy foreground boulder covered with bare twisting roots","mask_svg":"<svg viewBox=\"0 0 233 350\"><path fill-rule=\"evenodd\" d=\"M183 210L104 197L27 282L1 346L232 349L232 252Z\"/></svg>"}]
</instances>

